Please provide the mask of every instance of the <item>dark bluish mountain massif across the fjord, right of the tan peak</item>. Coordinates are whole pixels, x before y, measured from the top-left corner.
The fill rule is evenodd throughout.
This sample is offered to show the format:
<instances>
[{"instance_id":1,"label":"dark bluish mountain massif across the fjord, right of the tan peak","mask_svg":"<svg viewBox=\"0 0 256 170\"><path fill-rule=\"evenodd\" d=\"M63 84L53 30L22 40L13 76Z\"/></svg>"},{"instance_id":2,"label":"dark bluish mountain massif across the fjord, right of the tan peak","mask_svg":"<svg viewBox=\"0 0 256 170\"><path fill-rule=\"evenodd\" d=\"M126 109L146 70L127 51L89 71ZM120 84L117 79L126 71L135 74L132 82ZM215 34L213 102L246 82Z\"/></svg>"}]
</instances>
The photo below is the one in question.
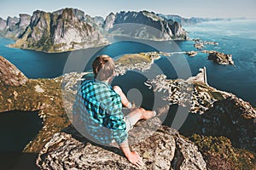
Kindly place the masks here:
<instances>
[{"instance_id":1,"label":"dark bluish mountain massif across the fjord, right of the tan peak","mask_svg":"<svg viewBox=\"0 0 256 170\"><path fill-rule=\"evenodd\" d=\"M188 34L175 21L164 20L153 12L119 12L108 14L104 29L109 34L150 40L186 40Z\"/></svg>"}]
</instances>

